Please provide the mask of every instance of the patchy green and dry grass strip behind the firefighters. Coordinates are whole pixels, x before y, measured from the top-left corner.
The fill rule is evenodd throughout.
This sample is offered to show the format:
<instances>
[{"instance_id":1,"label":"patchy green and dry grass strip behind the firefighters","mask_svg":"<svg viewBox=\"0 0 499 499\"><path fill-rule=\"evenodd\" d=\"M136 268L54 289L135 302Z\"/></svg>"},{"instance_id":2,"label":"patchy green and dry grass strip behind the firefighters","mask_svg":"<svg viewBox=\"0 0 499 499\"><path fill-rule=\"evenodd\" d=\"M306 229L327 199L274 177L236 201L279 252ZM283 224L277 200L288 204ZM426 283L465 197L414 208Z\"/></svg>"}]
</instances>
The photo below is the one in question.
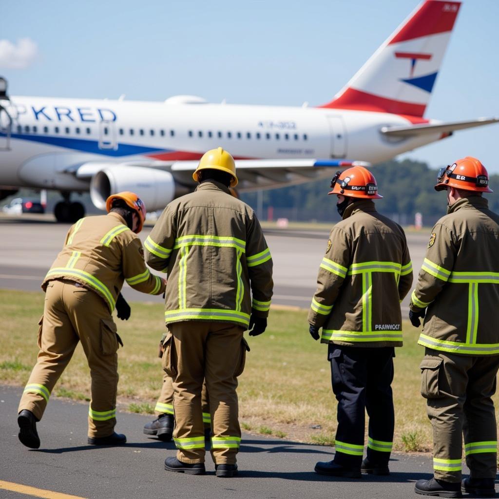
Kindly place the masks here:
<instances>
[{"instance_id":1,"label":"patchy green and dry grass strip behind the firefighters","mask_svg":"<svg viewBox=\"0 0 499 499\"><path fill-rule=\"evenodd\" d=\"M0 290L0 383L26 383L38 351L37 322L43 297L42 292ZM165 329L160 301L132 303L130 320L115 319L125 344L118 351L118 402L130 411L152 414L160 393L163 371L157 345ZM238 388L240 420L244 422L241 426L245 431L275 436L279 435L273 429L278 429L288 438L333 445L336 400L327 347L310 338L306 314L306 310L272 309L267 331L247 338L251 351ZM396 350L392 385L394 449L427 451L432 447L432 430L426 401L420 395L419 363L424 349L417 345L419 332L407 321L403 328L404 347ZM76 348L54 393L88 400L90 376L81 346ZM497 407L497 395L495 402ZM320 430L313 429L318 425Z\"/></svg>"}]
</instances>

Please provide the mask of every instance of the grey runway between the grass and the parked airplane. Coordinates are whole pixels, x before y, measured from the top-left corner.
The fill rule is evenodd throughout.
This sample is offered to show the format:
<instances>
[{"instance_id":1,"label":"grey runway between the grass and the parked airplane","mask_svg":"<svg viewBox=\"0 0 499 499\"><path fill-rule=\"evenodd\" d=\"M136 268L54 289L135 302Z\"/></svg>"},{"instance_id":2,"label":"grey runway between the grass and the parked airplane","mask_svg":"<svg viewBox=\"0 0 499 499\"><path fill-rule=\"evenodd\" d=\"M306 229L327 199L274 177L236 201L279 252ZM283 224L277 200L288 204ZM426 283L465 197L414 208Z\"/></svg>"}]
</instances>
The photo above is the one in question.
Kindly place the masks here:
<instances>
[{"instance_id":1,"label":"grey runway between the grass and the parked airplane","mask_svg":"<svg viewBox=\"0 0 499 499\"><path fill-rule=\"evenodd\" d=\"M69 227L69 224L54 223L51 217L0 217L0 288L39 290ZM144 228L140 233L142 241L150 231L151 227ZM272 303L308 308L316 288L317 270L326 250L328 232L277 228L264 232L274 263ZM415 278L428 239L428 230L407 234ZM127 284L123 295L130 301L155 299ZM404 315L408 304L409 296L402 303Z\"/></svg>"}]
</instances>

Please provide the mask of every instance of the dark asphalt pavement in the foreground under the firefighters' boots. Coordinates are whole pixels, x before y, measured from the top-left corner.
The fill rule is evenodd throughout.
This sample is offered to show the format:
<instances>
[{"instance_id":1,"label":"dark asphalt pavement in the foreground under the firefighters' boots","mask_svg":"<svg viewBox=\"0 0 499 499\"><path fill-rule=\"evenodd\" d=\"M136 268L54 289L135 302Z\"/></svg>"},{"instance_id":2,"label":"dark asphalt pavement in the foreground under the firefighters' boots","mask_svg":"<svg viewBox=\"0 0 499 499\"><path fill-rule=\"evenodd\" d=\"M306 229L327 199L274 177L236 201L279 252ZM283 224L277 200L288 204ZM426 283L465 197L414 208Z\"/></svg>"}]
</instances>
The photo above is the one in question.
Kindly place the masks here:
<instances>
[{"instance_id":1,"label":"dark asphalt pavement in the foreground under the firefighters' boots","mask_svg":"<svg viewBox=\"0 0 499 499\"><path fill-rule=\"evenodd\" d=\"M175 455L175 447L142 433L150 417L119 412L116 429L125 433L127 445L97 448L87 445L87 405L57 398L37 424L40 449L29 450L17 440L21 392L0 385L0 498L69 499L58 492L72 499L400 499L418 497L414 482L431 476L429 455L394 453L389 477L322 477L313 468L333 458L330 447L249 434L243 434L239 477L216 478L209 454L206 476L166 472L163 462ZM21 486L42 489L45 495L19 493L26 491Z\"/></svg>"}]
</instances>

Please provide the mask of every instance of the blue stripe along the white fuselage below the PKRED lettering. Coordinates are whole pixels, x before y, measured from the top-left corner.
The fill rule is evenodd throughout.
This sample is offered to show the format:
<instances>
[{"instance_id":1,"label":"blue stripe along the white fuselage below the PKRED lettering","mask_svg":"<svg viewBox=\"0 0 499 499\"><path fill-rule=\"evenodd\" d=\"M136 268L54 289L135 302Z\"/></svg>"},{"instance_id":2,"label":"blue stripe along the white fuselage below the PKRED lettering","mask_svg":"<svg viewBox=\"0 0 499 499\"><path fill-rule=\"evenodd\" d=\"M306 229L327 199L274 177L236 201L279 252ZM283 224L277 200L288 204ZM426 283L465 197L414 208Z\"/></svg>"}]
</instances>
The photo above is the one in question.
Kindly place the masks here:
<instances>
[{"instance_id":1,"label":"blue stripe along the white fuselage below the PKRED lettering","mask_svg":"<svg viewBox=\"0 0 499 499\"><path fill-rule=\"evenodd\" d=\"M0 137L5 137L4 133L0 133ZM135 154L147 154L153 152L170 152L173 149L159 149L157 147L135 146L133 144L118 143L118 148L100 149L99 143L96 140L75 139L73 137L51 137L48 135L30 135L13 133L10 135L12 139L30 140L32 142L40 142L51 146L64 147L74 151L82 151L85 153L102 154L103 156L132 156Z\"/></svg>"}]
</instances>

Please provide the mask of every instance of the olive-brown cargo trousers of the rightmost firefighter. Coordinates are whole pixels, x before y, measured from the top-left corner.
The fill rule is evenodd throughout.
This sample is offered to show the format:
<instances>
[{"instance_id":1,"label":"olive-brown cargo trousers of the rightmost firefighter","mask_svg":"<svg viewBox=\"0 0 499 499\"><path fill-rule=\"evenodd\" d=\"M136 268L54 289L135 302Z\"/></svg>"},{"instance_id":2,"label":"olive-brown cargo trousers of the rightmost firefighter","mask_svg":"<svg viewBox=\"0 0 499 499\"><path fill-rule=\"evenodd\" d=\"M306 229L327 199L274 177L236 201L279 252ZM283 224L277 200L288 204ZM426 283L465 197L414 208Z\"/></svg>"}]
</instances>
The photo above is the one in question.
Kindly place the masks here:
<instances>
[{"instance_id":1,"label":"olive-brown cargo trousers of the rightmost firefighter","mask_svg":"<svg viewBox=\"0 0 499 499\"><path fill-rule=\"evenodd\" d=\"M472 478L496 478L496 393L499 355L458 355L427 348L421 394L433 428L435 478L461 481L463 435Z\"/></svg>"}]
</instances>

